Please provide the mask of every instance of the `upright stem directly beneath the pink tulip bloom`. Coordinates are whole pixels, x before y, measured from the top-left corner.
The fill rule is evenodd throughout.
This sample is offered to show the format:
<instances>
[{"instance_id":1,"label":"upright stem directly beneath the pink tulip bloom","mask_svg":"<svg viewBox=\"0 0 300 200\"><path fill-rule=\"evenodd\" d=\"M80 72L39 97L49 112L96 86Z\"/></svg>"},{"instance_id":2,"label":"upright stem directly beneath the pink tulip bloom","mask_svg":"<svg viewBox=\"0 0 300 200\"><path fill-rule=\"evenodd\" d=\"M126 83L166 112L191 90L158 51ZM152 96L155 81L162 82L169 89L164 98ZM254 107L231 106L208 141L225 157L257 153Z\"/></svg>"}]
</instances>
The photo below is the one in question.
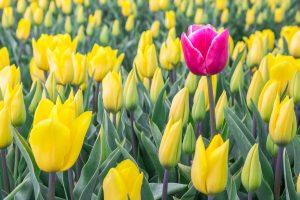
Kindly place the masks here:
<instances>
[{"instance_id":1,"label":"upright stem directly beneath the pink tulip bloom","mask_svg":"<svg viewBox=\"0 0 300 200\"><path fill-rule=\"evenodd\" d=\"M215 100L212 88L211 76L207 76L208 98L209 98L209 113L210 113L210 134L214 136L216 132L216 114L215 114Z\"/></svg>"}]
</instances>

